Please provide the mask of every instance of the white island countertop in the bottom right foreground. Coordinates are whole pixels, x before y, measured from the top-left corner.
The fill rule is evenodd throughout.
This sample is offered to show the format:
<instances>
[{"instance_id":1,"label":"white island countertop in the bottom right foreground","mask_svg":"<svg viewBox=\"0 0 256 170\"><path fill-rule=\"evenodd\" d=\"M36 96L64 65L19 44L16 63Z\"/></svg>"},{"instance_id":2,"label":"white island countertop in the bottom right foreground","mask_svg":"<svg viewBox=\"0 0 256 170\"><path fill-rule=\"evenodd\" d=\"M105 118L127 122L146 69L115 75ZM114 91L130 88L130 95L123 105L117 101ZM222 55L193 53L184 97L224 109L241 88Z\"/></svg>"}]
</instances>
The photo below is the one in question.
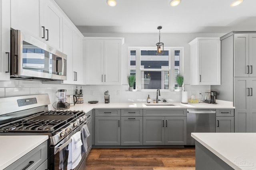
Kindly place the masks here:
<instances>
[{"instance_id":1,"label":"white island countertop in the bottom right foreground","mask_svg":"<svg viewBox=\"0 0 256 170\"><path fill-rule=\"evenodd\" d=\"M191 133L235 170L256 168L256 133Z\"/></svg>"}]
</instances>

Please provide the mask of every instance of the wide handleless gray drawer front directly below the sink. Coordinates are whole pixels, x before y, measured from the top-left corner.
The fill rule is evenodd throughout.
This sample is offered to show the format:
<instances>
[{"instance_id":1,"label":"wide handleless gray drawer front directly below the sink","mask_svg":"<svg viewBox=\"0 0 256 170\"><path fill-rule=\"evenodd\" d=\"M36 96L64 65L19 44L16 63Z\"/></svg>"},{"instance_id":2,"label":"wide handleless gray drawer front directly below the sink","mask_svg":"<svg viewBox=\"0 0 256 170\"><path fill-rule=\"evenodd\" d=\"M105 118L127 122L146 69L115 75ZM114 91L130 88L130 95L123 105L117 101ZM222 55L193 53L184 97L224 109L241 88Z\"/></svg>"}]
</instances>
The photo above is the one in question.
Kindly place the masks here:
<instances>
[{"instance_id":1,"label":"wide handleless gray drawer front directly below the sink","mask_svg":"<svg viewBox=\"0 0 256 170\"><path fill-rule=\"evenodd\" d=\"M186 109L143 109L143 116L187 116Z\"/></svg>"}]
</instances>

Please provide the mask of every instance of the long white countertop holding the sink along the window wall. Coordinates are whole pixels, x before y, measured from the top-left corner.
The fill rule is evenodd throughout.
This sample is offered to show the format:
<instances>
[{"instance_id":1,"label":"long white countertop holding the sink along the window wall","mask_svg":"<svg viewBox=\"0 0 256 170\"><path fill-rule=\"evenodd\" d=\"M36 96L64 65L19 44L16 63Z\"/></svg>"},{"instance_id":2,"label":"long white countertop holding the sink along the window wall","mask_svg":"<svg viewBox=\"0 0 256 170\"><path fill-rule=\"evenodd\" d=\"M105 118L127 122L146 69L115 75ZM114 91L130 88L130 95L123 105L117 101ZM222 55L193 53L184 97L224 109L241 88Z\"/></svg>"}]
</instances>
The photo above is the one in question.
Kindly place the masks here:
<instances>
[{"instance_id":1,"label":"long white countertop holding the sink along the window wall","mask_svg":"<svg viewBox=\"0 0 256 170\"><path fill-rule=\"evenodd\" d=\"M207 103L188 103L188 104L182 104L178 102L173 102L169 104L174 104L175 106L146 106L145 103L132 103L132 102L126 102L126 103L97 103L97 104L89 104L89 103L83 103L83 104L76 104L74 107L70 107L69 110L83 110L85 112L88 112L92 109L148 109L148 108L158 108L158 109L166 109L166 108L173 108L173 109L189 109L189 108L210 108L210 109L234 109L233 102L223 101L223 100L216 100L217 104L207 104Z\"/></svg>"}]
</instances>

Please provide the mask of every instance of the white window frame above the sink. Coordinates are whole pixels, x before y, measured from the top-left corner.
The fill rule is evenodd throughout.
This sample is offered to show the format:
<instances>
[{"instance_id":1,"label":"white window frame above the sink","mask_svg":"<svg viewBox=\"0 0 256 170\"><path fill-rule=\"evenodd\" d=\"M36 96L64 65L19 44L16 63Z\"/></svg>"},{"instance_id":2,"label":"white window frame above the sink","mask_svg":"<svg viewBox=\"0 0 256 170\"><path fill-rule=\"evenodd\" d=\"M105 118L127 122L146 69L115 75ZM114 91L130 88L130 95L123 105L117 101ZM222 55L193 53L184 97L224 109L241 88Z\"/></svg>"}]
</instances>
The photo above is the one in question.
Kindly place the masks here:
<instances>
[{"instance_id":1,"label":"white window frame above the sink","mask_svg":"<svg viewBox=\"0 0 256 170\"><path fill-rule=\"evenodd\" d=\"M156 89L141 89L141 71L169 71L169 89L161 89L161 91L177 91L175 90L175 80L174 76L174 57L175 57L175 51L180 51L180 74L183 74L184 72L184 47L164 47L164 51L169 51L169 68L157 68L157 69L147 69L147 68L140 68L141 63L141 51L143 50L154 50L156 51L156 47L128 47L128 56L129 56L129 62L128 62L128 74L130 75L130 51L136 51L136 90L138 91L146 91L146 92L152 92Z\"/></svg>"}]
</instances>

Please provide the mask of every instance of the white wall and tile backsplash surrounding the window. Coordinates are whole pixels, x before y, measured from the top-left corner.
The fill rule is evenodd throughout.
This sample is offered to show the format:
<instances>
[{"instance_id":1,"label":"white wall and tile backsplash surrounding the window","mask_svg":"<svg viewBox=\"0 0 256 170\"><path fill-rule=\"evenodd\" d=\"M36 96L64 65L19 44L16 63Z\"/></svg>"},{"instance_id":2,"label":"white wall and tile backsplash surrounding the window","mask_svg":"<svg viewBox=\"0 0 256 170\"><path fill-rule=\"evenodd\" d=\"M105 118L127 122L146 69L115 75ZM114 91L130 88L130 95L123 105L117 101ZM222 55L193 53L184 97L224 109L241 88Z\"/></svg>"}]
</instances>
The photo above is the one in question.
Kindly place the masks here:
<instances>
[{"instance_id":1,"label":"white wall and tile backsplash surrounding the window","mask_svg":"<svg viewBox=\"0 0 256 170\"><path fill-rule=\"evenodd\" d=\"M155 47L158 42L158 32L155 34L111 34L111 33L84 33L86 37L124 37L123 58L122 58L122 84L120 86L93 86L84 85L84 102L88 100L99 100L104 102L104 92L109 90L110 102L146 102L148 94L151 99L156 98L156 92L129 92L128 83L126 80L128 74L128 47ZM161 42L165 47L184 47L184 84L185 90L188 91L188 96L194 94L196 98L200 99L201 96L198 92L209 92L210 86L190 86L190 65L189 54L190 47L188 43L196 37L221 37L224 34L162 34ZM210 64L210 63L209 63ZM78 86L80 88L80 86ZM76 85L62 85L62 84L45 84L38 81L28 80L11 80L0 82L0 97L9 96L22 96L30 94L49 94L52 109L52 104L57 101L55 92L58 89L66 89L67 94L74 94ZM162 92L160 99L165 98L170 102L181 102L181 92Z\"/></svg>"}]
</instances>

